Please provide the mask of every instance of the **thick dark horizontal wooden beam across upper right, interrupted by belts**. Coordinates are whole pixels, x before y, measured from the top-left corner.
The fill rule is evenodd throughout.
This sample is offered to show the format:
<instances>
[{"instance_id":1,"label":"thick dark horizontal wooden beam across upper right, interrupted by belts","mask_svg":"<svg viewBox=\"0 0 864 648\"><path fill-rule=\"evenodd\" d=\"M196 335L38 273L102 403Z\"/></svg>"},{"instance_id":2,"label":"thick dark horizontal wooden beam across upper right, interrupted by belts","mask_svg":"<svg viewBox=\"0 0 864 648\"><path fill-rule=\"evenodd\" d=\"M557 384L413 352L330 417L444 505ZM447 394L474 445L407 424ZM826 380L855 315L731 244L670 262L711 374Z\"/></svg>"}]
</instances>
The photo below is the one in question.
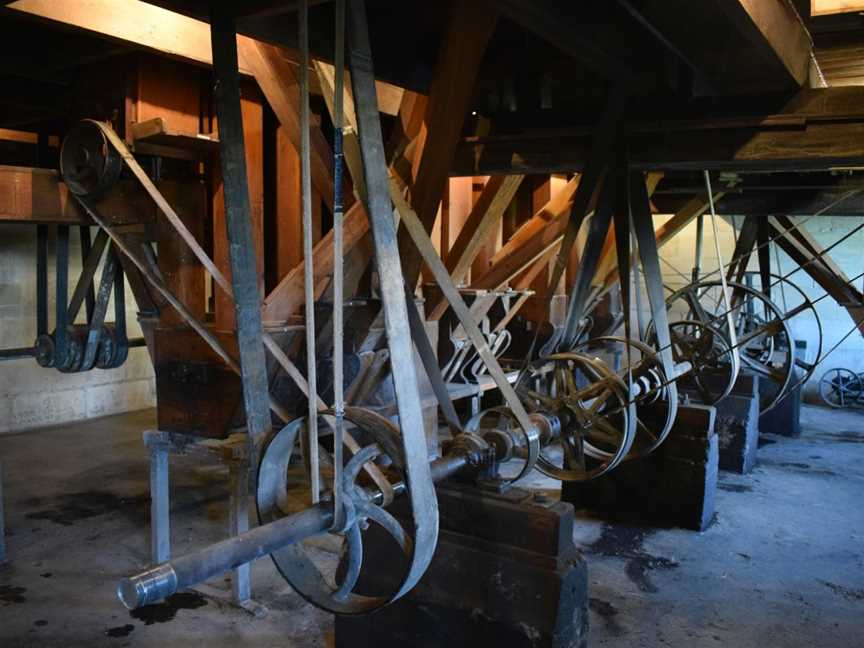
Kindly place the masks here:
<instances>
[{"instance_id":1,"label":"thick dark horizontal wooden beam across upper right, interrupted by belts","mask_svg":"<svg viewBox=\"0 0 864 648\"><path fill-rule=\"evenodd\" d=\"M630 122L631 165L646 170L829 170L864 165L864 88L806 89L780 112ZM572 173L589 152L590 128L464 140L452 175Z\"/></svg>"}]
</instances>

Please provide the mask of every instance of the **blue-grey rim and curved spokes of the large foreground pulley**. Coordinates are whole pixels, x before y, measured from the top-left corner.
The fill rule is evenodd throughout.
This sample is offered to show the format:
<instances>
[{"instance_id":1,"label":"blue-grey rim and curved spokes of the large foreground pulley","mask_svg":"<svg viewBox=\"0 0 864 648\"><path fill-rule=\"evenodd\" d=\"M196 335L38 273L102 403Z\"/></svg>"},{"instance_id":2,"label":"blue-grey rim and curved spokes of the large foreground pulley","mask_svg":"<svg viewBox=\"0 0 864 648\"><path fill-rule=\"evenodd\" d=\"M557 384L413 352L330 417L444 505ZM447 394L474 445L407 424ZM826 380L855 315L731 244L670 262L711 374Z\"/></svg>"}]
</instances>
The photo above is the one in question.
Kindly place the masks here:
<instances>
[{"instance_id":1,"label":"blue-grey rim and curved spokes of the large foreground pulley","mask_svg":"<svg viewBox=\"0 0 864 648\"><path fill-rule=\"evenodd\" d=\"M319 416L325 417L332 415L332 411L319 414ZM400 583L404 583L404 577L407 576L407 566L410 564L413 541L390 513L367 497L360 495L360 489L354 488L353 493L348 491L351 490L351 484L356 485L356 478L362 466L381 456L390 459L391 465L399 473L401 481L406 483L403 470L404 461L398 450L400 447L398 428L388 419L369 410L346 407L344 420L368 433L373 439L372 444L363 447L352 459L347 461L343 475L345 504L356 509L356 512L351 513L354 519L349 518L347 528L344 531L330 530L321 534L344 537L343 549L347 550L347 559L343 554L336 563L333 574L327 576L316 562L313 562L310 557L310 548L303 542L278 549L271 553L271 558L282 577L304 599L316 607L335 614L366 614L394 601L401 589L401 584L393 590L391 595L386 596L353 593L353 588L357 584L356 579L360 575L363 557L360 520L362 519L364 523L376 523L401 548L405 555L406 573L400 578ZM262 454L256 497L258 518L261 524L275 521L292 512L288 503L290 489L287 484L287 476L291 455L297 445L299 433L305 426L305 421L306 417L300 417L284 426L273 436ZM321 448L321 451L322 457L324 457L326 450ZM350 455L347 452L345 454L347 459ZM322 462L322 467L323 464L324 462ZM347 566L340 583L338 580L339 569L343 559L345 559ZM351 579L353 579L353 583ZM328 582L330 580L333 581L332 584ZM347 587L348 584L351 586Z\"/></svg>"}]
</instances>

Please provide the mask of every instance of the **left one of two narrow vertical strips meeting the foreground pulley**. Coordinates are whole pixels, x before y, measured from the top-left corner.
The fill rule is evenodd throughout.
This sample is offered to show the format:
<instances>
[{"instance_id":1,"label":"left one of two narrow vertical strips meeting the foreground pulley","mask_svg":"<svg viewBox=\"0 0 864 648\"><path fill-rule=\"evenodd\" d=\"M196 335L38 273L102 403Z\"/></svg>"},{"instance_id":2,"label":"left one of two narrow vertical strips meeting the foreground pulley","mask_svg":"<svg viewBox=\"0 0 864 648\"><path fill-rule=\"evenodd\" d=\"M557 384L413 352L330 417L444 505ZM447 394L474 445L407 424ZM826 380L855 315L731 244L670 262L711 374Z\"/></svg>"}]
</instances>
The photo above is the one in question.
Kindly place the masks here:
<instances>
[{"instance_id":1,"label":"left one of two narrow vertical strips meeting the foreground pulley","mask_svg":"<svg viewBox=\"0 0 864 648\"><path fill-rule=\"evenodd\" d=\"M303 208L303 289L306 300L306 380L309 383L309 416L306 451L312 503L320 496L318 471L318 393L315 367L315 278L312 266L312 172L309 158L309 0L300 0L298 12L300 43L300 201Z\"/></svg>"}]
</instances>

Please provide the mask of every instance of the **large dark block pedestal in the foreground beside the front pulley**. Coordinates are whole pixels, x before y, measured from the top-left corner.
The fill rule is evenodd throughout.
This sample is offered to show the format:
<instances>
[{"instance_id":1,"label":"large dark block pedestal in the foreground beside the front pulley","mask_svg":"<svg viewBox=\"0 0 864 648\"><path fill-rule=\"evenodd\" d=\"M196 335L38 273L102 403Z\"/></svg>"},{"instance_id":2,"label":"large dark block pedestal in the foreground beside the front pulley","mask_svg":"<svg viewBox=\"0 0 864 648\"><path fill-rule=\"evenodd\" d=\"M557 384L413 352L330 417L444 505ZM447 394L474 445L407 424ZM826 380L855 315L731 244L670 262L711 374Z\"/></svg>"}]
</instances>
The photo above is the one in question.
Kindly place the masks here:
<instances>
[{"instance_id":1,"label":"large dark block pedestal in the foreground beside the front pulley","mask_svg":"<svg viewBox=\"0 0 864 648\"><path fill-rule=\"evenodd\" d=\"M452 484L438 489L438 505L426 575L383 610L337 617L337 648L586 646L588 572L573 544L572 506ZM368 564L392 564L375 552Z\"/></svg>"}]
</instances>

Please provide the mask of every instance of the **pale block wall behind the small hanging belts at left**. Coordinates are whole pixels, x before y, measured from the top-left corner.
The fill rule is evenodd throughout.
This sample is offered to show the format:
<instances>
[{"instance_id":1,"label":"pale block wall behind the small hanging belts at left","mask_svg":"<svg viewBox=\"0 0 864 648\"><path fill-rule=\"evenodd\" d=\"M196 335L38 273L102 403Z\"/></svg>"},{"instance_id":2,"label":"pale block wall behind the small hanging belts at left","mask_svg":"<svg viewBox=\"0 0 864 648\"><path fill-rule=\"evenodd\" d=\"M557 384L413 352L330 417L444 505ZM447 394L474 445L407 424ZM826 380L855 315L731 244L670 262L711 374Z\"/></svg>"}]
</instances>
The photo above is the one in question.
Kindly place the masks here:
<instances>
[{"instance_id":1,"label":"pale block wall behind the small hanging belts at left","mask_svg":"<svg viewBox=\"0 0 864 648\"><path fill-rule=\"evenodd\" d=\"M70 293L81 265L77 228L71 232ZM53 237L49 242L49 328L54 320ZM96 273L97 281L100 272ZM109 321L113 320L113 301ZM129 337L140 337L135 299L126 290ZM83 319L83 318L82 318ZM31 346L36 337L36 228L0 225L0 347ZM32 358L0 362L0 433L153 407L153 367L145 348L111 370L63 374Z\"/></svg>"}]
</instances>

